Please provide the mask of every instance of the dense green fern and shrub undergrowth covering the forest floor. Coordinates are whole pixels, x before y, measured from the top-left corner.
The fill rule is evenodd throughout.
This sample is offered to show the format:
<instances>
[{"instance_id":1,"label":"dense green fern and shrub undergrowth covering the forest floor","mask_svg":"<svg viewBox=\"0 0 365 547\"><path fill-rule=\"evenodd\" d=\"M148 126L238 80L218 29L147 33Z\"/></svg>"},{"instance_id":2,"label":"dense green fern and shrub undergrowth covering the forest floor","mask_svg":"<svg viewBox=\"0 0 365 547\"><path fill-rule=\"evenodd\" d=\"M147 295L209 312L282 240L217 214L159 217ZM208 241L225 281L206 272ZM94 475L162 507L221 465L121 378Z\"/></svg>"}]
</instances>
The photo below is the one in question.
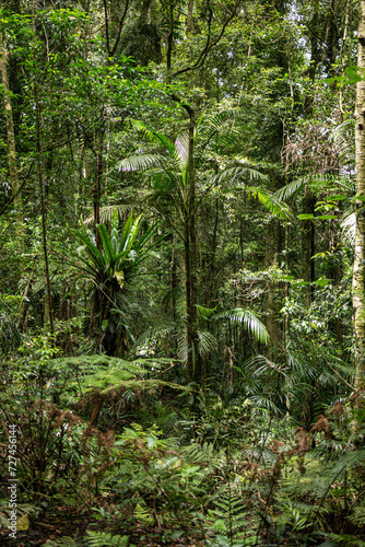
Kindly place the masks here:
<instances>
[{"instance_id":1,"label":"dense green fern and shrub undergrowth covering the forest floor","mask_svg":"<svg viewBox=\"0 0 365 547\"><path fill-rule=\"evenodd\" d=\"M166 360L62 358L42 336L9 360L1 446L13 424L25 534L62 507L86 517L87 532L44 545L363 545L355 399L329 406L308 430L244 393L198 392L165 371ZM0 498L3 536L5 487Z\"/></svg>"}]
</instances>

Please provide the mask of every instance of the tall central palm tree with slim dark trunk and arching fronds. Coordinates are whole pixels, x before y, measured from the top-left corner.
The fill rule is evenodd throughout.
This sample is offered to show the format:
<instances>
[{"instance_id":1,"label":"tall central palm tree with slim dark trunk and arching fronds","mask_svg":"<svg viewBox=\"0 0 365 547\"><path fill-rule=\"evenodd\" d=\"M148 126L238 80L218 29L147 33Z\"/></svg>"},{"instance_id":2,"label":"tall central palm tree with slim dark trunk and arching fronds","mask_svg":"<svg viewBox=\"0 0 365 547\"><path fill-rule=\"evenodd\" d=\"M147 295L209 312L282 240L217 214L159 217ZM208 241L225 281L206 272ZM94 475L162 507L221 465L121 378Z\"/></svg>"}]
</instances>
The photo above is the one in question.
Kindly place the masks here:
<instances>
[{"instance_id":1,"label":"tall central palm tree with slim dark trunk and arching fronds","mask_svg":"<svg viewBox=\"0 0 365 547\"><path fill-rule=\"evenodd\" d=\"M203 198L219 185L239 185L272 213L287 218L289 207L279 203L273 196L263 188L246 186L244 181L264 181L267 177L258 171L239 165L212 175L204 181L204 189L199 196L196 193L197 167L202 163L204 152L209 146L217 140L221 127L237 116L238 110L223 112L211 118L203 117L189 131L182 132L175 141L164 135L134 121L137 129L153 143L160 144L165 154L137 154L125 159L120 163L123 171L143 171L151 183L149 202L174 226L185 248L185 291L187 310L187 373L188 380L197 384L201 382L202 360L199 350L200 336L198 328L198 283L197 283L197 235L196 217ZM191 120L190 120L191 121ZM193 129L193 130L192 130ZM234 138L232 131L231 140ZM198 156L196 158L198 152ZM244 311L243 311L244 313ZM249 316L251 318L251 315ZM250 324L250 321L247 323Z\"/></svg>"}]
</instances>

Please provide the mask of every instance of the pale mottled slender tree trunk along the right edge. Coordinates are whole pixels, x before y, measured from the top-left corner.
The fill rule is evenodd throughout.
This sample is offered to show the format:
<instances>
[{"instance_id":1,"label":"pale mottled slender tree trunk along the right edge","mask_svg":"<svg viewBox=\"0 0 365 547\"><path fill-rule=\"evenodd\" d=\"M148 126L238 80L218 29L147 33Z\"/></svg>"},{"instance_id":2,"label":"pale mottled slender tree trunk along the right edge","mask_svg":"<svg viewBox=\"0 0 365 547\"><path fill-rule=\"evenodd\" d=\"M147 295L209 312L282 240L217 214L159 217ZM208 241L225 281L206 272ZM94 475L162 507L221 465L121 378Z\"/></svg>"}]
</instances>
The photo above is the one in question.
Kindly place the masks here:
<instances>
[{"instance_id":1,"label":"pale mottled slender tree trunk along the right edge","mask_svg":"<svg viewBox=\"0 0 365 547\"><path fill-rule=\"evenodd\" d=\"M365 68L365 0L361 0L358 21L357 66ZM355 146L356 146L356 195L365 195L365 81L356 84L355 106ZM365 388L365 216L363 201L356 199L355 258L352 278L352 302L354 314L355 353L355 389Z\"/></svg>"}]
</instances>

